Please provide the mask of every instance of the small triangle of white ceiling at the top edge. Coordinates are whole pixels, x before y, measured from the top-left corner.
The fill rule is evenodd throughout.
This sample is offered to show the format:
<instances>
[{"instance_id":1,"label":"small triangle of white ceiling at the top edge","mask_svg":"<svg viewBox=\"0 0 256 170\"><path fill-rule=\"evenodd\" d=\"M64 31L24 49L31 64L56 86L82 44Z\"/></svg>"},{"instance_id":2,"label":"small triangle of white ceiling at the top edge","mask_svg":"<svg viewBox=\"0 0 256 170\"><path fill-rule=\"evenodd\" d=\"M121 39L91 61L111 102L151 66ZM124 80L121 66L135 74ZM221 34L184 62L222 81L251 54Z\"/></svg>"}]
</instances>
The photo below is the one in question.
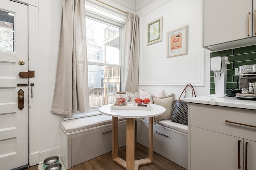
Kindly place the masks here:
<instances>
[{"instance_id":1,"label":"small triangle of white ceiling at the top edge","mask_svg":"<svg viewBox=\"0 0 256 170\"><path fill-rule=\"evenodd\" d=\"M136 12L154 0L112 0L112 1Z\"/></svg>"}]
</instances>

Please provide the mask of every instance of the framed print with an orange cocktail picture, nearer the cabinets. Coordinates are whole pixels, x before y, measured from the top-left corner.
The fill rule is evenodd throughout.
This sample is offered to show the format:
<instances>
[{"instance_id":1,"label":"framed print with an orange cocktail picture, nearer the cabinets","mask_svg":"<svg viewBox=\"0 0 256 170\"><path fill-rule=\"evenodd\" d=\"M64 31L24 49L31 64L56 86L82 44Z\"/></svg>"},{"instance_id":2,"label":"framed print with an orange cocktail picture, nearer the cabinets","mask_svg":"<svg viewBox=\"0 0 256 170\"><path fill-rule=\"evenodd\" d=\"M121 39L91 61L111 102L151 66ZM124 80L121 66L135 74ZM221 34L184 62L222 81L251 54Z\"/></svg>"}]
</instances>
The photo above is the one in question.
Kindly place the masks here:
<instances>
[{"instance_id":1,"label":"framed print with an orange cocktail picture, nearer the cabinets","mask_svg":"<svg viewBox=\"0 0 256 170\"><path fill-rule=\"evenodd\" d=\"M188 25L167 32L167 58L188 54Z\"/></svg>"}]
</instances>

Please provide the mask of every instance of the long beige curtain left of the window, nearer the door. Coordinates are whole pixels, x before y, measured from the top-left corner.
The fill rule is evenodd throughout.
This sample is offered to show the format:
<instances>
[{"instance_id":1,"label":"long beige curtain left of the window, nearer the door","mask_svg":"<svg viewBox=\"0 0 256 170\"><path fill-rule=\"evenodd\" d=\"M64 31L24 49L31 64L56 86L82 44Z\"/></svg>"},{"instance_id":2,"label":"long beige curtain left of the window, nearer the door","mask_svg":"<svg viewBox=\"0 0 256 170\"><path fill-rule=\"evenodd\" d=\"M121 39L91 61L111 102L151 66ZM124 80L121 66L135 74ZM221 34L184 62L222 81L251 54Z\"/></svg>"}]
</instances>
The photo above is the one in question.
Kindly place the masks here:
<instances>
[{"instance_id":1,"label":"long beige curtain left of the window, nearer the door","mask_svg":"<svg viewBox=\"0 0 256 170\"><path fill-rule=\"evenodd\" d=\"M89 109L85 0L64 0L51 113L71 115Z\"/></svg>"}]
</instances>

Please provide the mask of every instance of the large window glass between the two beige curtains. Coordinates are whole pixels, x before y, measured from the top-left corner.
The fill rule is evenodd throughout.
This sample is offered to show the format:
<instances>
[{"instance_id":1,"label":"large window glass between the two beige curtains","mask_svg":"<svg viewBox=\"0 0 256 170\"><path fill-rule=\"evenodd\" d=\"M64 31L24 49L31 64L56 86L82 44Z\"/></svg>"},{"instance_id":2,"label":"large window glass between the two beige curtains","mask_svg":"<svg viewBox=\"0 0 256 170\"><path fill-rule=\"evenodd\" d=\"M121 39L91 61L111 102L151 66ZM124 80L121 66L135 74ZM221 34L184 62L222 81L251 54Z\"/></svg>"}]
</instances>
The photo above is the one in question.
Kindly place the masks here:
<instances>
[{"instance_id":1,"label":"large window glass between the two beige curtains","mask_svg":"<svg viewBox=\"0 0 256 170\"><path fill-rule=\"evenodd\" d=\"M90 108L115 102L121 88L120 27L86 18Z\"/></svg>"}]
</instances>

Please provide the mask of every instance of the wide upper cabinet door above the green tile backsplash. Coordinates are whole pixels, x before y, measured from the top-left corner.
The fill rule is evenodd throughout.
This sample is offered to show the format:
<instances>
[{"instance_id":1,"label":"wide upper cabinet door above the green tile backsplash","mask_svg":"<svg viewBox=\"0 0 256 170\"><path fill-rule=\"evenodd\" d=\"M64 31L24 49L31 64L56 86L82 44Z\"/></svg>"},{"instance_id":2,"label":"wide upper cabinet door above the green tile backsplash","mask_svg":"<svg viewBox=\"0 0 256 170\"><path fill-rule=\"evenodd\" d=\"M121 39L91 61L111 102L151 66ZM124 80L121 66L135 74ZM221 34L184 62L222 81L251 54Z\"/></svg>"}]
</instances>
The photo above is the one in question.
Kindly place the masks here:
<instances>
[{"instance_id":1,"label":"wide upper cabinet door above the green tile backsplash","mask_svg":"<svg viewBox=\"0 0 256 170\"><path fill-rule=\"evenodd\" d=\"M252 37L252 0L204 0L204 47L247 37Z\"/></svg>"}]
</instances>

